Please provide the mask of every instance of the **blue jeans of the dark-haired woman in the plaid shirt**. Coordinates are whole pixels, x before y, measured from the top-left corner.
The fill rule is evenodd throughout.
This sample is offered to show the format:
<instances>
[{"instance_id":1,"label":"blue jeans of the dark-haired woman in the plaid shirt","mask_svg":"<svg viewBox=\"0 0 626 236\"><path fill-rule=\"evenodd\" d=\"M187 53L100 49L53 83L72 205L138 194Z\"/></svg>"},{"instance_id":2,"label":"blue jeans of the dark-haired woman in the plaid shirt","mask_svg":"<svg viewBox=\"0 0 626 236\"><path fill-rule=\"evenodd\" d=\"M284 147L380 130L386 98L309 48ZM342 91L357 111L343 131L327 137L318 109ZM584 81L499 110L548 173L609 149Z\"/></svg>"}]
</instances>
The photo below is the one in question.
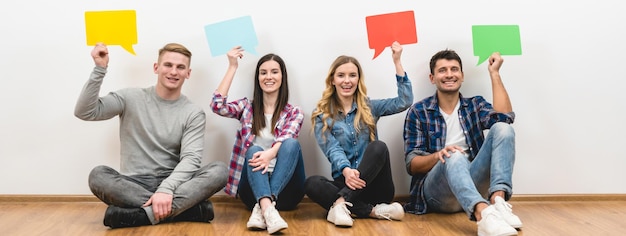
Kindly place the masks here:
<instances>
[{"instance_id":1,"label":"blue jeans of the dark-haired woman in the plaid shirt","mask_svg":"<svg viewBox=\"0 0 626 236\"><path fill-rule=\"evenodd\" d=\"M304 198L304 161L300 143L296 139L286 139L276 155L273 172L252 171L248 160L255 152L263 151L259 146L249 147L239 182L239 196L248 209L252 209L261 198L276 201L276 209L292 210Z\"/></svg>"}]
</instances>

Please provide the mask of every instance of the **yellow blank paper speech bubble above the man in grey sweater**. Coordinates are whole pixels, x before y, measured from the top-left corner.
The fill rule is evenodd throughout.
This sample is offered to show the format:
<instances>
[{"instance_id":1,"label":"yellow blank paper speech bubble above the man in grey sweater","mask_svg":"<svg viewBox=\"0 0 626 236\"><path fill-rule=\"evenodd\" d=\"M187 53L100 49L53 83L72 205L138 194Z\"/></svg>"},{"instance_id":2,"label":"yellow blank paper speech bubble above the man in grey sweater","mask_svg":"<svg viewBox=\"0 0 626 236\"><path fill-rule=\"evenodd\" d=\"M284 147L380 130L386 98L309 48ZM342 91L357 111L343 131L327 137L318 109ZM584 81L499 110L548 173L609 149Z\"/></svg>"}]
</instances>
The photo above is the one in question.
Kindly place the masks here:
<instances>
[{"instance_id":1,"label":"yellow blank paper speech bubble above the man in grey sweater","mask_svg":"<svg viewBox=\"0 0 626 236\"><path fill-rule=\"evenodd\" d=\"M135 55L133 44L137 44L137 14L135 10L87 11L85 12L87 45L102 42L120 45Z\"/></svg>"}]
</instances>

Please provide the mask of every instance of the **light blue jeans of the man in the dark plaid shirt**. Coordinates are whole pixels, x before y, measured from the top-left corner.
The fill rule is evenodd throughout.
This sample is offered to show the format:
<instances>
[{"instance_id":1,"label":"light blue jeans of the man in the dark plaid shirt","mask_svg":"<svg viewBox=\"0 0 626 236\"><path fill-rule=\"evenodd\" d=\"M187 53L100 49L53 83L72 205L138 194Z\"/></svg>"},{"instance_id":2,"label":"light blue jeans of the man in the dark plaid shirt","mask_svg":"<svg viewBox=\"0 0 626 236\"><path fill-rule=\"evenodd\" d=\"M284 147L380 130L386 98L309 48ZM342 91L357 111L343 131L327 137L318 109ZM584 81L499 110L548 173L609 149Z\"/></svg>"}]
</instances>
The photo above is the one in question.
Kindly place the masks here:
<instances>
[{"instance_id":1,"label":"light blue jeans of the man in the dark plaid shirt","mask_svg":"<svg viewBox=\"0 0 626 236\"><path fill-rule=\"evenodd\" d=\"M476 204L489 204L491 194L504 191L508 200L513 193L515 132L507 123L494 124L474 160L457 151L437 163L424 180L424 197L429 212L465 211L471 220Z\"/></svg>"}]
</instances>

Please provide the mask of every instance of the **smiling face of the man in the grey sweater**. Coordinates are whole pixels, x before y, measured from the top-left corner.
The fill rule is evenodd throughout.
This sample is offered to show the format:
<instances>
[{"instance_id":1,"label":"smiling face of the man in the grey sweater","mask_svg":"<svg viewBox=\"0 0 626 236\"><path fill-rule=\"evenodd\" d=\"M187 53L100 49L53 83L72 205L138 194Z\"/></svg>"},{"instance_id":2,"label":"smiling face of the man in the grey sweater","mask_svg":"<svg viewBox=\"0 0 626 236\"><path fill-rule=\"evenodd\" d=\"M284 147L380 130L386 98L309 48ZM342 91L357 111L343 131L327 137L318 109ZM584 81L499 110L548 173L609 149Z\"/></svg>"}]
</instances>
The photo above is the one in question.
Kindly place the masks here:
<instances>
[{"instance_id":1,"label":"smiling face of the man in the grey sweater","mask_svg":"<svg viewBox=\"0 0 626 236\"><path fill-rule=\"evenodd\" d=\"M189 57L177 52L164 52L154 63L157 74L157 90L180 93L183 83L191 75Z\"/></svg>"}]
</instances>

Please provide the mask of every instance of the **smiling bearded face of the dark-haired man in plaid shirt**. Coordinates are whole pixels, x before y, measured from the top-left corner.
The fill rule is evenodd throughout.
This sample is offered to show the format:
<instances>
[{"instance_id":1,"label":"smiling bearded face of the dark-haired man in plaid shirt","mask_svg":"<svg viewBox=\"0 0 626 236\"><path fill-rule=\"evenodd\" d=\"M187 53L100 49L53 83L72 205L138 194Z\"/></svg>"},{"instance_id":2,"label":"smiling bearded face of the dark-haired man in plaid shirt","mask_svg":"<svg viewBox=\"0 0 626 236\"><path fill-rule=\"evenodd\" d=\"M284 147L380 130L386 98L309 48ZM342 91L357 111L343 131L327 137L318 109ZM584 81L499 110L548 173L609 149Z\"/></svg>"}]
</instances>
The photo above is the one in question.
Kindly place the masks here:
<instances>
[{"instance_id":1,"label":"smiling bearded face of the dark-haired man in plaid shirt","mask_svg":"<svg viewBox=\"0 0 626 236\"><path fill-rule=\"evenodd\" d=\"M456 60L437 60L429 77L437 91L442 93L457 93L463 83L463 71Z\"/></svg>"}]
</instances>

